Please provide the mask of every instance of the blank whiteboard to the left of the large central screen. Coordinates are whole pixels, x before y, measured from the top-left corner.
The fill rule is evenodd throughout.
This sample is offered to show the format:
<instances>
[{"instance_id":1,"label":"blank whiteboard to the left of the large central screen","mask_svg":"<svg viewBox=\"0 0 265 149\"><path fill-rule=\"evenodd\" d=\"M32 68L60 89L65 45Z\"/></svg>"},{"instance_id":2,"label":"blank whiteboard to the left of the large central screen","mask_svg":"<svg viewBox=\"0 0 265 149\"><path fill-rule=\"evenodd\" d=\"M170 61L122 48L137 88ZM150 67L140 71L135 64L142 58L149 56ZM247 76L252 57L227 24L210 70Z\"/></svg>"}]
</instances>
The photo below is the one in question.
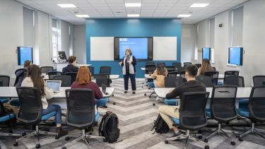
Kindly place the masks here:
<instances>
[{"instance_id":1,"label":"blank whiteboard to the left of the large central screen","mask_svg":"<svg viewBox=\"0 0 265 149\"><path fill-rule=\"evenodd\" d=\"M90 37L90 61L114 61L114 37Z\"/></svg>"}]
</instances>

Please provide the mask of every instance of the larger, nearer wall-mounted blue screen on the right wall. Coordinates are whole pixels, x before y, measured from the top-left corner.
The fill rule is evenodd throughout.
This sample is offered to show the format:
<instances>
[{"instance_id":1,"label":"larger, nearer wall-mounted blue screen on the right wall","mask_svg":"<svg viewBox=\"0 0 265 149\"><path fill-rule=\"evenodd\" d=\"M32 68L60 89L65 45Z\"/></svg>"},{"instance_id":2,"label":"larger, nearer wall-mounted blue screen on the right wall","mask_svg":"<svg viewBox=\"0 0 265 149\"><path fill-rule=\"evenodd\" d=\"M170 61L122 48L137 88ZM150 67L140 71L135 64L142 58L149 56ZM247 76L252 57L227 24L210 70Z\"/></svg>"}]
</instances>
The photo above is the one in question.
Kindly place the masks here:
<instances>
[{"instance_id":1,"label":"larger, nearer wall-mounted blue screen on the right wall","mask_svg":"<svg viewBox=\"0 0 265 149\"><path fill-rule=\"evenodd\" d=\"M228 64L237 66L243 65L243 47L228 48Z\"/></svg>"}]
</instances>

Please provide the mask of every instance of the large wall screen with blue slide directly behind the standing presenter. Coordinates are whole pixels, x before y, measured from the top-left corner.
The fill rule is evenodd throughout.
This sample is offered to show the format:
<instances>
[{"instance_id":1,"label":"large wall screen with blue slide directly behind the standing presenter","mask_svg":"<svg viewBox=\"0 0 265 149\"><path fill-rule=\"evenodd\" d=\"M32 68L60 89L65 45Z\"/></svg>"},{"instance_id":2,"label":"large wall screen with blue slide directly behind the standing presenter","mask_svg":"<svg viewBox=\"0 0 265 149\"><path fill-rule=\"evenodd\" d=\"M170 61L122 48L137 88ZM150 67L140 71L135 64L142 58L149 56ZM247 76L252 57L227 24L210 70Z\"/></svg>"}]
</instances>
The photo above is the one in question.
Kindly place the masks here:
<instances>
[{"instance_id":1,"label":"large wall screen with blue slide directly behind the standing presenter","mask_svg":"<svg viewBox=\"0 0 265 149\"><path fill-rule=\"evenodd\" d=\"M138 60L153 59L153 37L114 37L114 59L122 59L127 48Z\"/></svg>"}]
</instances>

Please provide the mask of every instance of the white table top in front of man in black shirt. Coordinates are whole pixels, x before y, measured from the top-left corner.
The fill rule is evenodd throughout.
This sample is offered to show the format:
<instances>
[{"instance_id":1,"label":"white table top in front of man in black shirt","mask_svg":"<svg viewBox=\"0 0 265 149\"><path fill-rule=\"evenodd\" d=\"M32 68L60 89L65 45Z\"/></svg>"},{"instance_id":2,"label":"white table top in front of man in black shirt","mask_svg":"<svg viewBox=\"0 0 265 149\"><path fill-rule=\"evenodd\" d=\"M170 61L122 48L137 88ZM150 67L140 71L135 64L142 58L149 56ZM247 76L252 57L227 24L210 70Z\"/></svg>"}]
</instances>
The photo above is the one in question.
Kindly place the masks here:
<instances>
[{"instance_id":1,"label":"white table top in front of man in black shirt","mask_svg":"<svg viewBox=\"0 0 265 149\"><path fill-rule=\"evenodd\" d=\"M174 88L155 88L155 94L158 97L165 98L165 95L173 90ZM206 88L206 91L210 93L209 97L211 97L213 88ZM252 88L237 88L237 99L249 98Z\"/></svg>"}]
</instances>

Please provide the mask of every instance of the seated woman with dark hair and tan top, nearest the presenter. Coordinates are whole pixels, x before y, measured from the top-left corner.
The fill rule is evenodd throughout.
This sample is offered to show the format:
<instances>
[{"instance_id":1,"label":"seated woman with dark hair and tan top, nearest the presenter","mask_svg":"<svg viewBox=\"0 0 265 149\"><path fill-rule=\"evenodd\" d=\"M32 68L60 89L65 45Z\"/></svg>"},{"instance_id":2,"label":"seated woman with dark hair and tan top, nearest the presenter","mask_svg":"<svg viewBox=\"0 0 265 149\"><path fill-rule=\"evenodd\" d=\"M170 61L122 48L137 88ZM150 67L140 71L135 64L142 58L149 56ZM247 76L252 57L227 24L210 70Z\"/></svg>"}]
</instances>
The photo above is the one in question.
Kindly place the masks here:
<instances>
[{"instance_id":1,"label":"seated woman with dark hair and tan top, nearest the presenter","mask_svg":"<svg viewBox=\"0 0 265 149\"><path fill-rule=\"evenodd\" d=\"M153 71L152 78L155 79L155 86L157 88L165 88L165 76L167 76L167 68L159 65L158 68Z\"/></svg>"}]
</instances>

